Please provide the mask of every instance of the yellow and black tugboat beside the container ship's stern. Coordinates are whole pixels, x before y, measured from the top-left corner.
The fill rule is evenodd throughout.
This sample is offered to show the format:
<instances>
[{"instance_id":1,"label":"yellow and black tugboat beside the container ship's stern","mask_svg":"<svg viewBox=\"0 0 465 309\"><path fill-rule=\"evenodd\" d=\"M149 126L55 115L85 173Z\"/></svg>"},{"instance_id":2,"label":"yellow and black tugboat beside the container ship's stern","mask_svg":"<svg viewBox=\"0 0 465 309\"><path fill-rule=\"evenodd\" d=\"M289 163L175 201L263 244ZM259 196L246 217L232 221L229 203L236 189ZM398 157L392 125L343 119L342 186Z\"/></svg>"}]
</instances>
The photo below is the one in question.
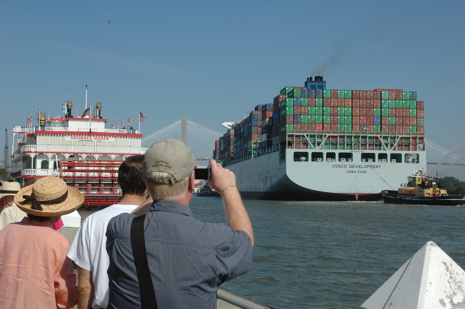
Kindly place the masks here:
<instances>
[{"instance_id":1,"label":"yellow and black tugboat beside the container ship's stern","mask_svg":"<svg viewBox=\"0 0 465 309\"><path fill-rule=\"evenodd\" d=\"M425 176L422 169L412 171L407 179L408 183L400 184L397 191L379 193L385 204L465 205L465 197L450 196L441 188L439 178Z\"/></svg>"}]
</instances>

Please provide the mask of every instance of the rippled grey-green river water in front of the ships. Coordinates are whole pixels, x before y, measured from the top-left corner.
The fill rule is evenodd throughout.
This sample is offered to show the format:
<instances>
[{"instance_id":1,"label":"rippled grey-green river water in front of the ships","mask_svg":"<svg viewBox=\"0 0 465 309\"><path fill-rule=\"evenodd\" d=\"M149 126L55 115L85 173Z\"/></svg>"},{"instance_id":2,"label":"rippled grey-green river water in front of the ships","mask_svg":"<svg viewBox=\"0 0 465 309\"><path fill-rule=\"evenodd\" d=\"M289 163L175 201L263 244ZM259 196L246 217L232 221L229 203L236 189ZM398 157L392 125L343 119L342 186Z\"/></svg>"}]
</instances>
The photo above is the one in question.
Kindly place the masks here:
<instances>
[{"instance_id":1,"label":"rippled grey-green river water in front of the ships","mask_svg":"<svg viewBox=\"0 0 465 309\"><path fill-rule=\"evenodd\" d=\"M465 267L465 206L244 204L255 238L252 269L222 288L278 309L359 308L428 241ZM226 223L219 197L194 196L190 206L196 219Z\"/></svg>"}]
</instances>

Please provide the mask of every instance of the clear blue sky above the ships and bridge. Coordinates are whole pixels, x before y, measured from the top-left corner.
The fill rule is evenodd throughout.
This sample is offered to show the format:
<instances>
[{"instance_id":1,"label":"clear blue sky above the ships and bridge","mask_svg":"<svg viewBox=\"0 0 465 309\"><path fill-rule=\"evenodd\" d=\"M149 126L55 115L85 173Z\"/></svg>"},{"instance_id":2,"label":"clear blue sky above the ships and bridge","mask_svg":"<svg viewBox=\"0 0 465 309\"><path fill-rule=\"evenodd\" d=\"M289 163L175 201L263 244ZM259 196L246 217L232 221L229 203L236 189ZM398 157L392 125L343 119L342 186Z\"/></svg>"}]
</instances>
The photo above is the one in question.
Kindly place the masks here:
<instances>
[{"instance_id":1,"label":"clear blue sky above the ships and bridge","mask_svg":"<svg viewBox=\"0 0 465 309\"><path fill-rule=\"evenodd\" d=\"M322 75L331 89L417 91L426 138L452 150L465 138L464 9L465 1L3 1L1 124L11 144L28 110L61 116L72 100L82 114L88 85L88 104L103 102L109 121L145 113L147 135L181 116L224 133L221 120Z\"/></svg>"}]
</instances>

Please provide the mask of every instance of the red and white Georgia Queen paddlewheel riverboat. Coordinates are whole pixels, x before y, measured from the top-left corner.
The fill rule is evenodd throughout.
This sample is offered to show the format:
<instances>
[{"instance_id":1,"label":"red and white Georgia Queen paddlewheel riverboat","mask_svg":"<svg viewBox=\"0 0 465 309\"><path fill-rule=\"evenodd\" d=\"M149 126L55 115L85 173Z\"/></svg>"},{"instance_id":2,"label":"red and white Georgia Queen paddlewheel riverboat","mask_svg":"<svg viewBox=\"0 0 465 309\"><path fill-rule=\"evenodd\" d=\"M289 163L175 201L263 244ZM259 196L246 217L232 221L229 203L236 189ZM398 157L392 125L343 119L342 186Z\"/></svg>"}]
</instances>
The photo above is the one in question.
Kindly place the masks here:
<instances>
[{"instance_id":1,"label":"red and white Georgia Queen paddlewheel riverboat","mask_svg":"<svg viewBox=\"0 0 465 309\"><path fill-rule=\"evenodd\" d=\"M126 156L144 154L142 133L125 129L119 123L106 128L100 116L102 105L96 103L82 117L72 115L72 101L66 101L65 117L46 117L38 112L38 125L32 116L26 126L13 127L18 148L12 155L11 176L26 185L30 179L58 176L85 197L83 206L109 206L118 203L121 188L118 168Z\"/></svg>"}]
</instances>

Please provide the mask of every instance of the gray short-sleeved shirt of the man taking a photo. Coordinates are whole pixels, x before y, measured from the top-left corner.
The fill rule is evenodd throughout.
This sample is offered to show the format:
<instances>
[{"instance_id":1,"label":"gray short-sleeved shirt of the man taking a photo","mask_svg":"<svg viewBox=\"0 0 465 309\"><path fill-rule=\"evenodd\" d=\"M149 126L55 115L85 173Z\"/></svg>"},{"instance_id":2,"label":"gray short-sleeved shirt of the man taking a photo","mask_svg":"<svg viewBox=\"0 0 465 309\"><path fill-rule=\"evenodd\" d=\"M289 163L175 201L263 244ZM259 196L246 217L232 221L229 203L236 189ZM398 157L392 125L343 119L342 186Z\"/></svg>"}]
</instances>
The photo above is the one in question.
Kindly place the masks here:
<instances>
[{"instance_id":1,"label":"gray short-sleeved shirt of the man taking a photo","mask_svg":"<svg viewBox=\"0 0 465 309\"><path fill-rule=\"evenodd\" d=\"M135 215L110 220L108 308L141 308L131 247ZM221 283L245 274L252 265L252 242L245 231L200 222L185 204L155 201L145 223L147 260L159 309L217 308Z\"/></svg>"}]
</instances>

